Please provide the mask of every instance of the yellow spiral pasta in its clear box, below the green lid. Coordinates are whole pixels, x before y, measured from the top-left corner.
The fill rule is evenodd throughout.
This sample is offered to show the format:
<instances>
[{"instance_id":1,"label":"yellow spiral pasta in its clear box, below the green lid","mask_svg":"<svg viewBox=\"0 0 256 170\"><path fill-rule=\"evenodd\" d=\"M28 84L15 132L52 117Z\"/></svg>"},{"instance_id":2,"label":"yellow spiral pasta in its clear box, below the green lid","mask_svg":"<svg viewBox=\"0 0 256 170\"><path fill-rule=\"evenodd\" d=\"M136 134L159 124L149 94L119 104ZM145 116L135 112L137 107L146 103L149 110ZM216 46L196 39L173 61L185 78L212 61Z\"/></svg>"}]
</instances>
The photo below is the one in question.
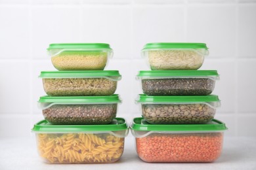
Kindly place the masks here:
<instances>
[{"instance_id":1,"label":"yellow spiral pasta in its clear box, below the green lid","mask_svg":"<svg viewBox=\"0 0 256 170\"><path fill-rule=\"evenodd\" d=\"M41 157L51 163L108 163L123 154L124 138L111 134L38 133Z\"/></svg>"}]
</instances>

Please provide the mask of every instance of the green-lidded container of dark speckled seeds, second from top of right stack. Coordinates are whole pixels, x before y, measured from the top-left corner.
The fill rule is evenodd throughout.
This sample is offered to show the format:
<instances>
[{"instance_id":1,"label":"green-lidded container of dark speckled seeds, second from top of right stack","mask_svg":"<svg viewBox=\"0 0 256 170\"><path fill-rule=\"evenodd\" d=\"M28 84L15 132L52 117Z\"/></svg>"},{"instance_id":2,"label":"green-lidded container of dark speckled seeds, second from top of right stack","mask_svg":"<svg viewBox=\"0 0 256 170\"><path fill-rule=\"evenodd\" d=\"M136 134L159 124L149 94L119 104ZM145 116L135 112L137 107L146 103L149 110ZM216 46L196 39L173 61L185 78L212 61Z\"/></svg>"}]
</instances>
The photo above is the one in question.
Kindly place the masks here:
<instances>
[{"instance_id":1,"label":"green-lidded container of dark speckled seeds, second from top of right stack","mask_svg":"<svg viewBox=\"0 0 256 170\"><path fill-rule=\"evenodd\" d=\"M146 95L209 95L219 75L215 70L140 71L137 78Z\"/></svg>"}]
</instances>

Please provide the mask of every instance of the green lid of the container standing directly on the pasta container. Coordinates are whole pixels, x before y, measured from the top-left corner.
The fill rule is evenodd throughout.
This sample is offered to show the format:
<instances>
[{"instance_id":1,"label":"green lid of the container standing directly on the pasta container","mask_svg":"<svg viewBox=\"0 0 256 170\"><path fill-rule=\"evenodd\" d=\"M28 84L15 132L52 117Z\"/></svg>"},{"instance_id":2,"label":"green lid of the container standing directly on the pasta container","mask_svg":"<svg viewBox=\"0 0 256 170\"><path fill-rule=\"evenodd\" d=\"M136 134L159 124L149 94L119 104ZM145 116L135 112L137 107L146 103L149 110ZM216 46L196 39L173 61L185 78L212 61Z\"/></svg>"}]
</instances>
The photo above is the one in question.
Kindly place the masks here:
<instances>
[{"instance_id":1,"label":"green lid of the container standing directly on the pasta container","mask_svg":"<svg viewBox=\"0 0 256 170\"><path fill-rule=\"evenodd\" d=\"M39 103L121 103L119 95L106 95L106 96L41 96Z\"/></svg>"}]
</instances>

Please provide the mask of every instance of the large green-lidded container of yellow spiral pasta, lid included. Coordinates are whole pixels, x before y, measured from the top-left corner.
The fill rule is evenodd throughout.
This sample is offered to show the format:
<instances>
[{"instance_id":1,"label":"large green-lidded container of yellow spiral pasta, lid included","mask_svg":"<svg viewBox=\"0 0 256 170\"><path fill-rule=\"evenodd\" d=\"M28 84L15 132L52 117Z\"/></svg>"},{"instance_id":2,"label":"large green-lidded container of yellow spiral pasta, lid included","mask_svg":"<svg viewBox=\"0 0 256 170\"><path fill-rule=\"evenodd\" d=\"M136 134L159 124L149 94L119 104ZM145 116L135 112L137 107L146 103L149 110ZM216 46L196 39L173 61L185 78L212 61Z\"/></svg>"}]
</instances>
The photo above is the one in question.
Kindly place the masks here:
<instances>
[{"instance_id":1,"label":"large green-lidded container of yellow spiral pasta, lid included","mask_svg":"<svg viewBox=\"0 0 256 170\"><path fill-rule=\"evenodd\" d=\"M123 118L107 125L33 126L39 156L47 163L112 163L123 154L129 128Z\"/></svg>"}]
</instances>

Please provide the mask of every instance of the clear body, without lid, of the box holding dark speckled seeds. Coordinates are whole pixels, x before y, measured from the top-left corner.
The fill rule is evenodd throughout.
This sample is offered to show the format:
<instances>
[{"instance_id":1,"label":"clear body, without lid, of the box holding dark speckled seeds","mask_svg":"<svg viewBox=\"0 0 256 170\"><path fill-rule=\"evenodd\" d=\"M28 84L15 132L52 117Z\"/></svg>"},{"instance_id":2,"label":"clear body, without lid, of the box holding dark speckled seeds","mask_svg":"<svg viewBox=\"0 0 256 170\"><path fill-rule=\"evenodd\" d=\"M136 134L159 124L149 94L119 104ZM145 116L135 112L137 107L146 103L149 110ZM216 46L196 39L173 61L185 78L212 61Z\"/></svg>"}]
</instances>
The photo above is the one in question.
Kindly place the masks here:
<instances>
[{"instance_id":1,"label":"clear body, without lid, of the box holding dark speckled seeds","mask_svg":"<svg viewBox=\"0 0 256 170\"><path fill-rule=\"evenodd\" d=\"M211 78L149 78L141 80L146 95L209 95L215 87Z\"/></svg>"}]
</instances>

